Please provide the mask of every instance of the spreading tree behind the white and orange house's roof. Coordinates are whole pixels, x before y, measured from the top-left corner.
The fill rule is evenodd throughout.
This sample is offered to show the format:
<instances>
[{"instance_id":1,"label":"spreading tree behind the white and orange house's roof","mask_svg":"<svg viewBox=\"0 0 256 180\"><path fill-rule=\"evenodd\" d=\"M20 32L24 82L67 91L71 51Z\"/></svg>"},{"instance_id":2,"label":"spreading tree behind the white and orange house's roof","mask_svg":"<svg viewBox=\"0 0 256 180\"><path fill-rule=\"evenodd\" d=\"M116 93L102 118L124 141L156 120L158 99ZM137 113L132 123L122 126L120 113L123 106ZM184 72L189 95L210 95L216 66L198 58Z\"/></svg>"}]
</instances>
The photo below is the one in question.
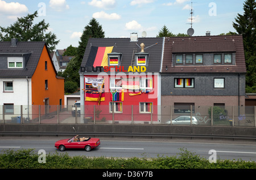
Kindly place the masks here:
<instances>
[{"instance_id":1,"label":"spreading tree behind the white and orange house's roof","mask_svg":"<svg viewBox=\"0 0 256 180\"><path fill-rule=\"evenodd\" d=\"M19 41L44 41L49 51L52 51L60 40L56 41L57 37L54 33L46 33L49 23L46 23L44 19L37 24L33 24L34 19L37 17L38 11L35 11L34 14L18 18L10 27L4 28L0 26L0 41L11 41L11 38L17 38Z\"/></svg>"}]
</instances>

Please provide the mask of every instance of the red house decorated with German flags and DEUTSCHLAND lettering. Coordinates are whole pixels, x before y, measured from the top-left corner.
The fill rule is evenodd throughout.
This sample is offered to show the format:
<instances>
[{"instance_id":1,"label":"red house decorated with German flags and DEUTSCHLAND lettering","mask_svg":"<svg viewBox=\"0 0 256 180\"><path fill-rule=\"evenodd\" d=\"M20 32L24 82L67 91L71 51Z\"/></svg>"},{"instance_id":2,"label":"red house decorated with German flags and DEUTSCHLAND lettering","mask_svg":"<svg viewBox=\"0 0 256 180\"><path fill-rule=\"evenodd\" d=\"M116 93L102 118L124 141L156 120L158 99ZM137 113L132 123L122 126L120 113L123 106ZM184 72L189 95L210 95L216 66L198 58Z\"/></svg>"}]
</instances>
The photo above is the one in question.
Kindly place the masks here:
<instances>
[{"instance_id":1,"label":"red house decorated with German flags and DEUTSCHLAND lettering","mask_svg":"<svg viewBox=\"0 0 256 180\"><path fill-rule=\"evenodd\" d=\"M81 114L96 121L159 121L164 38L89 38L80 67Z\"/></svg>"}]
</instances>

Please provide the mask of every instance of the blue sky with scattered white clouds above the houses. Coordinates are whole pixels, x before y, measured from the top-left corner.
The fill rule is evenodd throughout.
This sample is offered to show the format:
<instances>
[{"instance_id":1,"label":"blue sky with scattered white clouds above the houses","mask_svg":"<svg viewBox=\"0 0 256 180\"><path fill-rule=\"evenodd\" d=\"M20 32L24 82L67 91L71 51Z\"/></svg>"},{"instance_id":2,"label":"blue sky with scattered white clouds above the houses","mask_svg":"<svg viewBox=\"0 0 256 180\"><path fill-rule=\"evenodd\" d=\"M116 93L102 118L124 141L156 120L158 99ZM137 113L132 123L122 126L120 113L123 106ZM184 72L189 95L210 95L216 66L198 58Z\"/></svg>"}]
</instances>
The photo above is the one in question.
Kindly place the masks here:
<instances>
[{"instance_id":1,"label":"blue sky with scattered white clouds above the houses","mask_svg":"<svg viewBox=\"0 0 256 180\"><path fill-rule=\"evenodd\" d=\"M192 3L191 3L192 2ZM130 37L146 32L156 37L164 25L174 34L191 28L192 36L236 32L232 23L243 14L245 0L0 0L0 26L8 27L18 17L38 11L34 23L46 20L47 31L60 40L56 49L79 46L80 37L92 18L102 25L105 37ZM192 6L191 6L192 5Z\"/></svg>"}]
</instances>

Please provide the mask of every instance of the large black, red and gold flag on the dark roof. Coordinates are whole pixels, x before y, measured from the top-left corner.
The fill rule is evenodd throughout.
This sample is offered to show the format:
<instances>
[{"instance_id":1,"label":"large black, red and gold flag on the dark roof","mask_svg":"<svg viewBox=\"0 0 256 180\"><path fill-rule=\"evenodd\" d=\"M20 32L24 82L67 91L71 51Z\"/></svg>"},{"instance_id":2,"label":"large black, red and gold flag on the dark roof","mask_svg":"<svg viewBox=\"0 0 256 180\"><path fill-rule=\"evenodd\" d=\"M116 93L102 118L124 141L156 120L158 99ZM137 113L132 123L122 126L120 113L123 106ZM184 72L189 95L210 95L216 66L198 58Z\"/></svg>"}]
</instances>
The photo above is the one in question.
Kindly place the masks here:
<instances>
[{"instance_id":1,"label":"large black, red and gold flag on the dark roof","mask_svg":"<svg viewBox=\"0 0 256 180\"><path fill-rule=\"evenodd\" d=\"M86 62L86 67L108 66L108 53L112 53L114 46L90 48L89 57Z\"/></svg>"}]
</instances>

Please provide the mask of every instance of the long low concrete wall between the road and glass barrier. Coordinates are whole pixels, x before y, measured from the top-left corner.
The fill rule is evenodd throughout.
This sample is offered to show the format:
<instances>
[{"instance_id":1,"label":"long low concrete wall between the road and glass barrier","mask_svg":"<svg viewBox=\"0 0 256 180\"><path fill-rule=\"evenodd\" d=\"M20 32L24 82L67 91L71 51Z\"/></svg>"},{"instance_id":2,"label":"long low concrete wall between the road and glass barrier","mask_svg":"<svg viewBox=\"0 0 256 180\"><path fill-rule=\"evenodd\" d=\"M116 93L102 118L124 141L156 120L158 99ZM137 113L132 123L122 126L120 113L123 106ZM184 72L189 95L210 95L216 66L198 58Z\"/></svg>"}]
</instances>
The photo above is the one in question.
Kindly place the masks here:
<instances>
[{"instance_id":1,"label":"long low concrete wall between the road and glass barrier","mask_svg":"<svg viewBox=\"0 0 256 180\"><path fill-rule=\"evenodd\" d=\"M75 127L76 131L73 130ZM122 135L215 135L215 136L250 136L256 139L255 127L220 127L220 126L170 126L170 125L0 125L0 135L7 133L42 133L58 135L68 134L108 134Z\"/></svg>"}]
</instances>

